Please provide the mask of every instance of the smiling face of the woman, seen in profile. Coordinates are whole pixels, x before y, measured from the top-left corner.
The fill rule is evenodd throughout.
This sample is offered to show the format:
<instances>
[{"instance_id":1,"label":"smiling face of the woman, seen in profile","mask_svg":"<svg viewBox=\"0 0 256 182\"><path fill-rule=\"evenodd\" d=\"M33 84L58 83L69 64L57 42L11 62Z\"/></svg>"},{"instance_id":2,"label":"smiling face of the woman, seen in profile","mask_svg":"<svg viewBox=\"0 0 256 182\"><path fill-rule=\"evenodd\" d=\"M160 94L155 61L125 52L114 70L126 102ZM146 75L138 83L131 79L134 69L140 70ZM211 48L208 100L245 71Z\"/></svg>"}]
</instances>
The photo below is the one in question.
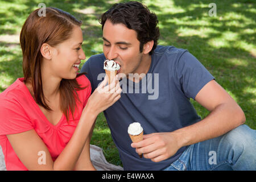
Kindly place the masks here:
<instances>
[{"instance_id":1,"label":"smiling face of the woman, seen in profile","mask_svg":"<svg viewBox=\"0 0 256 182\"><path fill-rule=\"evenodd\" d=\"M76 78L81 60L85 59L82 41L82 30L79 26L75 26L71 37L52 49L49 64L51 75L65 79Z\"/></svg>"}]
</instances>

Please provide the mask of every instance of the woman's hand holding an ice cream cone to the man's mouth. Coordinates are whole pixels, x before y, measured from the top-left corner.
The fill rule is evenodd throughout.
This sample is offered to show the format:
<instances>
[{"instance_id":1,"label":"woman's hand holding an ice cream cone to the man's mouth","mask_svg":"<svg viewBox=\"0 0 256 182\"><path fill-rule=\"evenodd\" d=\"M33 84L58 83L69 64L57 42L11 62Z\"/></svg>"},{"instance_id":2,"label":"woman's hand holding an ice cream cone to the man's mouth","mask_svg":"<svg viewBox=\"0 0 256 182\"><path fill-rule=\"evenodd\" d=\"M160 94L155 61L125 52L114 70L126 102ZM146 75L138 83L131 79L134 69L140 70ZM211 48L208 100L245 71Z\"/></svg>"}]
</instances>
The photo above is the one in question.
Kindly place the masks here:
<instances>
[{"instance_id":1,"label":"woman's hand holding an ice cream cone to the man's mouth","mask_svg":"<svg viewBox=\"0 0 256 182\"><path fill-rule=\"evenodd\" d=\"M122 89L119 85L117 76L115 76L115 80L113 80L110 85L106 85L107 82L108 77L105 76L101 84L89 97L85 110L89 108L98 115L121 98Z\"/></svg>"}]
</instances>

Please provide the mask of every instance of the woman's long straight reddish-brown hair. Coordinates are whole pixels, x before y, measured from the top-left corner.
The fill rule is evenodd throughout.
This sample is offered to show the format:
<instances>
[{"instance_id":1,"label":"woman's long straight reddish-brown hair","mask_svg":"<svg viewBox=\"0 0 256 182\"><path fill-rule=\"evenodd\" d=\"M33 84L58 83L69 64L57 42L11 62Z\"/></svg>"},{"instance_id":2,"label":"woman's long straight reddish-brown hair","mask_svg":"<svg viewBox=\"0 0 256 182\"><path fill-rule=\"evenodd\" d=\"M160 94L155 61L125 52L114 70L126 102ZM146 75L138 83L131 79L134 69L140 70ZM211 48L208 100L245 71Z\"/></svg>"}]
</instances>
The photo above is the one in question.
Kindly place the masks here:
<instances>
[{"instance_id":1,"label":"woman's long straight reddish-brown hair","mask_svg":"<svg viewBox=\"0 0 256 182\"><path fill-rule=\"evenodd\" d=\"M41 75L41 63L43 56L40 48L43 43L49 46L56 46L69 39L75 26L81 26L81 21L77 20L71 14L56 9L54 7L46 8L46 16L39 16L37 9L33 11L20 32L20 46L23 53L23 74L24 82L31 82L34 100L40 106L47 110L51 108L46 103L43 92L43 83ZM77 74L77 77L84 73ZM69 110L73 113L76 109L76 100L79 100L76 90L81 88L76 78L72 80L62 79L60 82L60 105L61 111L64 113L67 121L69 121Z\"/></svg>"}]
</instances>

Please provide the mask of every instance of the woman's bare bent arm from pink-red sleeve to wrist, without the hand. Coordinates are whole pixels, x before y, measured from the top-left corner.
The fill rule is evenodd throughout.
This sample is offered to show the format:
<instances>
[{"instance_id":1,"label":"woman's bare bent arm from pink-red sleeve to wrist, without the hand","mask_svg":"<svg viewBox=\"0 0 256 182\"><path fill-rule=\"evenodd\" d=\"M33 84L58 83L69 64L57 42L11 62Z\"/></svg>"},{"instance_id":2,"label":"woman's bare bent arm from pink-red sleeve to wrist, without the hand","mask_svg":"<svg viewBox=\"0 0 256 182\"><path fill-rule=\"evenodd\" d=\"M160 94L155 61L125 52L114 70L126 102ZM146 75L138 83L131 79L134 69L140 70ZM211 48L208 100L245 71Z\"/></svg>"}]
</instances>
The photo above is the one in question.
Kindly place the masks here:
<instances>
[{"instance_id":1,"label":"woman's bare bent arm from pink-red sleeve to wrist, without the hand","mask_svg":"<svg viewBox=\"0 0 256 182\"><path fill-rule=\"evenodd\" d=\"M85 146L95 119L95 114L84 111L71 140L55 162L53 162L46 144L35 130L7 135L7 138L16 155L28 170L72 170Z\"/></svg>"}]
</instances>

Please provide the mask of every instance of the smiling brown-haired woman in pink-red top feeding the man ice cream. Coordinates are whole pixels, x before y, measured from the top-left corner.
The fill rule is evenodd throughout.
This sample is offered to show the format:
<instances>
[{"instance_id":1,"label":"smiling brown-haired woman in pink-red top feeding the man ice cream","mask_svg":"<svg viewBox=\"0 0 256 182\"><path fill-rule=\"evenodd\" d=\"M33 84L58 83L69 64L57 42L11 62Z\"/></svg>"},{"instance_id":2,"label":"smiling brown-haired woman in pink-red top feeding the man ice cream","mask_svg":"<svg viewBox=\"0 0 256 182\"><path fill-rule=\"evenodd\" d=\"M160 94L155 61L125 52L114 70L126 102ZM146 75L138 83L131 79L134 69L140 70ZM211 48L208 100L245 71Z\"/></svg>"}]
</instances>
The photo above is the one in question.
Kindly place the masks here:
<instances>
[{"instance_id":1,"label":"smiling brown-haired woman in pink-red top feeding the man ice cream","mask_svg":"<svg viewBox=\"0 0 256 182\"><path fill-rule=\"evenodd\" d=\"M94 121L121 97L121 88L117 80L105 86L105 78L90 96L88 78L77 74L85 59L80 26L53 7L41 17L35 10L24 23L24 78L0 94L7 170L95 170L89 153Z\"/></svg>"}]
</instances>

